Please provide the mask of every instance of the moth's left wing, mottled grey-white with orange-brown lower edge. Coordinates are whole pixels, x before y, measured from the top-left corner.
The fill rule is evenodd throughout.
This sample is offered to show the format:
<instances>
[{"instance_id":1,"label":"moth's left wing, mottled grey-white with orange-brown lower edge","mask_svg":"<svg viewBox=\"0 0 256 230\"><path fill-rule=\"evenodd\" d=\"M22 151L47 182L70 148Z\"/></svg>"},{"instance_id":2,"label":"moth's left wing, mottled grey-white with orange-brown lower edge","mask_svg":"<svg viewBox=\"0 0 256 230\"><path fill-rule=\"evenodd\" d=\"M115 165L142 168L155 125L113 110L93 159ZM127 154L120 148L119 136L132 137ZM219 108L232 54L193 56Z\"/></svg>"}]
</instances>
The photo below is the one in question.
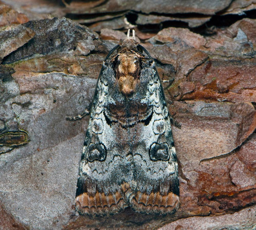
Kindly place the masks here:
<instances>
[{"instance_id":1,"label":"moth's left wing, mottled grey-white with orange-brown lower edge","mask_svg":"<svg viewBox=\"0 0 256 230\"><path fill-rule=\"evenodd\" d=\"M120 155L117 146L118 123L106 115L111 94L117 91L112 62L103 63L96 86L89 126L84 141L76 191L76 208L80 214L102 216L127 207L125 178L132 174L131 166ZM118 91L117 91L118 93Z\"/></svg>"}]
</instances>

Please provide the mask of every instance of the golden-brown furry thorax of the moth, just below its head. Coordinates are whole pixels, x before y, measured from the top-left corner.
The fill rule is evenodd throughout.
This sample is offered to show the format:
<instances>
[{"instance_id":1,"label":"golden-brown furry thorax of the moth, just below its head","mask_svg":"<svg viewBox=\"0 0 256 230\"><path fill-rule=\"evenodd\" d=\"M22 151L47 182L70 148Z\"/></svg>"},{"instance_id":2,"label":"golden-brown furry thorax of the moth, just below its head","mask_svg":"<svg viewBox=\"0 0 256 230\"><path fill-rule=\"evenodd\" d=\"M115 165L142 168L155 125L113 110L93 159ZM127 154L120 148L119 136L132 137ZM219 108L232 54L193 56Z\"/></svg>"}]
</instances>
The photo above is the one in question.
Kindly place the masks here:
<instances>
[{"instance_id":1,"label":"golden-brown furry thorax of the moth, just below its head","mask_svg":"<svg viewBox=\"0 0 256 230\"><path fill-rule=\"evenodd\" d=\"M117 56L116 78L120 92L126 96L133 94L139 83L141 58L143 56L129 49L123 49Z\"/></svg>"}]
</instances>

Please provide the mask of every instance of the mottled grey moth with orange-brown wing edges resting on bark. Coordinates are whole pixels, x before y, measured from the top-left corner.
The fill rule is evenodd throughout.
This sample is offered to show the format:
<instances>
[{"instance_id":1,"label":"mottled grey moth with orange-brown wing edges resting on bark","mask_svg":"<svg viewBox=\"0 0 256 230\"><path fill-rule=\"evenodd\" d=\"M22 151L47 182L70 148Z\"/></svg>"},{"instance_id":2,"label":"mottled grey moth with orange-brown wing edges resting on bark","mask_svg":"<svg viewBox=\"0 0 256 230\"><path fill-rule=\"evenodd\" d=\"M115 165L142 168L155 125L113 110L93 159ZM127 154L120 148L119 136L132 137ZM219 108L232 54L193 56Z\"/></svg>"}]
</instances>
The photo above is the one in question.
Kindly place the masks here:
<instances>
[{"instance_id":1,"label":"mottled grey moth with orange-brown wing edges resting on bark","mask_svg":"<svg viewBox=\"0 0 256 230\"><path fill-rule=\"evenodd\" d=\"M136 42L135 31L130 38L130 30L103 62L76 191L81 215L105 216L126 207L163 215L179 207L178 164L163 87L155 62Z\"/></svg>"}]
</instances>

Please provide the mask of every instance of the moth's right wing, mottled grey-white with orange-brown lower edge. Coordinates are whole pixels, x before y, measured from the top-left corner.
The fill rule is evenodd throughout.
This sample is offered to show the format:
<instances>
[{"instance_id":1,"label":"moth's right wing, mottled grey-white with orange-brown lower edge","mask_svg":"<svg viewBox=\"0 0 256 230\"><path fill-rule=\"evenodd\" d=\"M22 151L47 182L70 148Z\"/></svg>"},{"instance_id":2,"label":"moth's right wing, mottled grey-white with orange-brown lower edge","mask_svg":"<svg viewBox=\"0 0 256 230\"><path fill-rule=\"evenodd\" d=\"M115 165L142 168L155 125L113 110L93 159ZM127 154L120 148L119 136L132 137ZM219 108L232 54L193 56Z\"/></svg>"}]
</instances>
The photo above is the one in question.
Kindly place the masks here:
<instances>
[{"instance_id":1,"label":"moth's right wing, mottled grey-white with orange-brown lower edge","mask_svg":"<svg viewBox=\"0 0 256 230\"><path fill-rule=\"evenodd\" d=\"M173 214L179 207L179 178L172 127L163 88L151 60L142 62L140 105L150 115L138 117L131 130L134 139L134 177L137 187L130 203L135 211L147 214ZM140 132L137 132L140 130Z\"/></svg>"}]
</instances>

